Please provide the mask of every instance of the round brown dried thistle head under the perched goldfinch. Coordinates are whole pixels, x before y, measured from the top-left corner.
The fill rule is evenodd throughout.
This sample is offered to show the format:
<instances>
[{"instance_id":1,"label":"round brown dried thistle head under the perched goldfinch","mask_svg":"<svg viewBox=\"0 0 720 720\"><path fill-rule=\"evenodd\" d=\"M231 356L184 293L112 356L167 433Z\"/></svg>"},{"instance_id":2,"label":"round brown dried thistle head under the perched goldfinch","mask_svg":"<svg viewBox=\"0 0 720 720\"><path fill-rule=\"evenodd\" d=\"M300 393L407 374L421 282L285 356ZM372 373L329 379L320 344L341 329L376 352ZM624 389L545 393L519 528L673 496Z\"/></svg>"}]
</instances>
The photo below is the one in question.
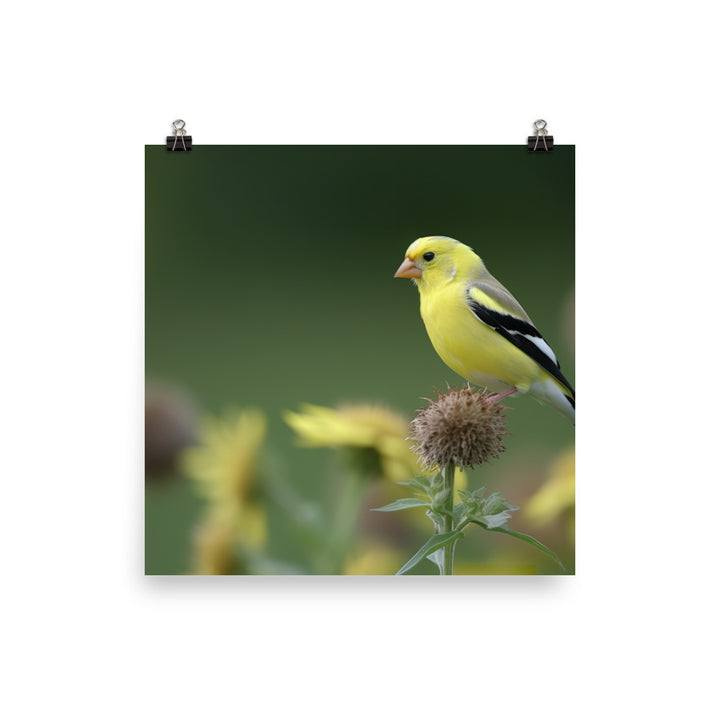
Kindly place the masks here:
<instances>
[{"instance_id":1,"label":"round brown dried thistle head under the perched goldfinch","mask_svg":"<svg viewBox=\"0 0 720 720\"><path fill-rule=\"evenodd\" d=\"M413 450L428 468L449 462L473 467L500 456L508 434L503 410L485 392L469 386L438 392L437 400L418 410L410 423Z\"/></svg>"}]
</instances>

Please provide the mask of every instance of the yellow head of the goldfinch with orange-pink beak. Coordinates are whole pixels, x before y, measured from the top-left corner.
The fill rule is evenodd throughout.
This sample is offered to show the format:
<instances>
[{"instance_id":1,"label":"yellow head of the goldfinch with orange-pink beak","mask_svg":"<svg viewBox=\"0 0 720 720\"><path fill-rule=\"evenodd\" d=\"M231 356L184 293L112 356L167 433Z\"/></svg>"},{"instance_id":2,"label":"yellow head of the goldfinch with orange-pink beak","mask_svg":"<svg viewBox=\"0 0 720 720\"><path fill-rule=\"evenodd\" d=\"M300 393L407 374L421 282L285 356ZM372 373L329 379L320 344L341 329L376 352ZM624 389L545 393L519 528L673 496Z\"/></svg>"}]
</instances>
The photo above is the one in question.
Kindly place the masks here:
<instances>
[{"instance_id":1,"label":"yellow head of the goldfinch with orange-pink beak","mask_svg":"<svg viewBox=\"0 0 720 720\"><path fill-rule=\"evenodd\" d=\"M411 278L420 288L463 279L482 267L472 248L442 235L418 238L405 253L405 260L394 277Z\"/></svg>"}]
</instances>

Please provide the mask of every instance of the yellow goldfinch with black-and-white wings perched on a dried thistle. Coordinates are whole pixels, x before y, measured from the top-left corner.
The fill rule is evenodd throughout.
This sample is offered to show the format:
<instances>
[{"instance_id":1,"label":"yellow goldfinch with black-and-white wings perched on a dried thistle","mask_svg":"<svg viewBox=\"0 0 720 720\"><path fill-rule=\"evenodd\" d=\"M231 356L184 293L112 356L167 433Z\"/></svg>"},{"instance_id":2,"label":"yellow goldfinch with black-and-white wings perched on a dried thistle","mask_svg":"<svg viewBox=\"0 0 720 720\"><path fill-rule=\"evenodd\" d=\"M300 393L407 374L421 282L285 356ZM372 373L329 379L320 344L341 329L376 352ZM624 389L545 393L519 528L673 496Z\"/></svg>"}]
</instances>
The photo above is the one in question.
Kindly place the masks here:
<instances>
[{"instance_id":1,"label":"yellow goldfinch with black-and-white wings perched on a dried thistle","mask_svg":"<svg viewBox=\"0 0 720 720\"><path fill-rule=\"evenodd\" d=\"M498 393L528 393L575 422L575 391L555 353L517 300L472 248L442 236L419 238L395 277L412 278L437 354L456 373Z\"/></svg>"}]
</instances>

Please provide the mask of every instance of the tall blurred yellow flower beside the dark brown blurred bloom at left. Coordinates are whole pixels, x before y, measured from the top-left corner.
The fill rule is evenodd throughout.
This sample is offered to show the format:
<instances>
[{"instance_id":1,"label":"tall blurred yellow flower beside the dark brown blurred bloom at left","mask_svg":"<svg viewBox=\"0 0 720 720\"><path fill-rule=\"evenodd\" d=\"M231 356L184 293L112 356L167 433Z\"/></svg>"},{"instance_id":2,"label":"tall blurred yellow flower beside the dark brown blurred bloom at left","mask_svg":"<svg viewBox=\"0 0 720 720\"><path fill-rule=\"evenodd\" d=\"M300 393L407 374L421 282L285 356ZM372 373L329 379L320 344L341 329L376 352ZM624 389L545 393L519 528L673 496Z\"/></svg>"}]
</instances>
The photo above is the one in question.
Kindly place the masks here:
<instances>
[{"instance_id":1,"label":"tall blurred yellow flower beside the dark brown blurred bloom at left","mask_svg":"<svg viewBox=\"0 0 720 720\"><path fill-rule=\"evenodd\" d=\"M235 532L251 547L261 547L267 540L267 517L256 483L266 435L267 420L259 410L235 410L222 419L207 417L200 426L200 444L182 457L183 470L208 501L202 527L213 527L218 535Z\"/></svg>"}]
</instances>

